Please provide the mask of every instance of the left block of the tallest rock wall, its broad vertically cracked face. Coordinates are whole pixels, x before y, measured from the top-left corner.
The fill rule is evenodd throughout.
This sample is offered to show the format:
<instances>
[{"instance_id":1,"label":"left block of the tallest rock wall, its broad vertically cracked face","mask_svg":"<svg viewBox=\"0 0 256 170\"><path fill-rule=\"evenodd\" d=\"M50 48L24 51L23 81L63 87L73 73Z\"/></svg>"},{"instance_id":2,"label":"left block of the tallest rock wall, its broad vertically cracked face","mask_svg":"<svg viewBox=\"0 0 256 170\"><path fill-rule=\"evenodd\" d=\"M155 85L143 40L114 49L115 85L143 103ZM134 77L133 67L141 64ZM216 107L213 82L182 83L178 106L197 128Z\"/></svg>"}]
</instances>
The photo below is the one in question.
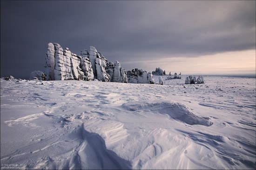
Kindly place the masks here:
<instances>
[{"instance_id":1,"label":"left block of the tallest rock wall, its broad vertically cracked face","mask_svg":"<svg viewBox=\"0 0 256 170\"><path fill-rule=\"evenodd\" d=\"M57 43L49 43L46 52L46 80L93 80L88 59L63 48Z\"/></svg>"}]
</instances>

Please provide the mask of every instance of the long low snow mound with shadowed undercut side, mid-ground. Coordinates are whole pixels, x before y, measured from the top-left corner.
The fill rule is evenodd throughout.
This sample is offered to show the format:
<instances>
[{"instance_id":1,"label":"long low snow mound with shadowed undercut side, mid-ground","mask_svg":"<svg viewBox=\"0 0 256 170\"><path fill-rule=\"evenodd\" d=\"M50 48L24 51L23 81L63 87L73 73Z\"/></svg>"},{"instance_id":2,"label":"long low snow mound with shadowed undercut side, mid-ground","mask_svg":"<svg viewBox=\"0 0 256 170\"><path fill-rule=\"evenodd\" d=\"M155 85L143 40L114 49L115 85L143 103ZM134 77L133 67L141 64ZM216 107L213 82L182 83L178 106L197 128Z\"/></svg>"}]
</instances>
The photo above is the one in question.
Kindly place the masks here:
<instances>
[{"instance_id":1,"label":"long low snow mound with shadowed undercut side, mid-ground","mask_svg":"<svg viewBox=\"0 0 256 170\"><path fill-rule=\"evenodd\" d=\"M166 114L169 118L194 125L200 124L210 126L213 123L207 118L202 118L197 115L186 105L177 102L128 102L122 105L129 111L150 111L154 113Z\"/></svg>"}]
</instances>

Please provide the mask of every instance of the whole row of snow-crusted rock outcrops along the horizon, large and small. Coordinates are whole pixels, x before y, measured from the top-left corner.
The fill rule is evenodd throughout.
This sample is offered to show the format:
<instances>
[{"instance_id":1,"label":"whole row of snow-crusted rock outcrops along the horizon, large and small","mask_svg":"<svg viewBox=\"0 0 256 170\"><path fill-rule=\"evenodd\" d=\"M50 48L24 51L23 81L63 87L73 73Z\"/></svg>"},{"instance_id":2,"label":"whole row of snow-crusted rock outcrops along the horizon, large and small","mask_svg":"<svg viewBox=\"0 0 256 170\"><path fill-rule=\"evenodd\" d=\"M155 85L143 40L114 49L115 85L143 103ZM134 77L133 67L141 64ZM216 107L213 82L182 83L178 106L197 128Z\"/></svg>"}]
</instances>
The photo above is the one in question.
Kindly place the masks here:
<instances>
[{"instance_id":1,"label":"whole row of snow-crusted rock outcrops along the horizon, large and small","mask_svg":"<svg viewBox=\"0 0 256 170\"><path fill-rule=\"evenodd\" d=\"M137 68L126 72L118 61L115 61L115 63L108 61L94 46L90 46L89 50L82 50L81 54L77 55L68 48L63 49L58 43L48 43L45 67L45 72L31 72L30 79L99 80L105 82L155 84L153 74L165 75L165 71L162 71L159 67L152 72L153 74ZM178 76L175 73L174 77L168 79L172 78L181 78L181 73ZM188 83L187 79L186 84ZM194 79L190 81L189 77L190 82L193 83ZM197 82L200 81L197 80ZM203 83L203 80L201 82Z\"/></svg>"}]
</instances>

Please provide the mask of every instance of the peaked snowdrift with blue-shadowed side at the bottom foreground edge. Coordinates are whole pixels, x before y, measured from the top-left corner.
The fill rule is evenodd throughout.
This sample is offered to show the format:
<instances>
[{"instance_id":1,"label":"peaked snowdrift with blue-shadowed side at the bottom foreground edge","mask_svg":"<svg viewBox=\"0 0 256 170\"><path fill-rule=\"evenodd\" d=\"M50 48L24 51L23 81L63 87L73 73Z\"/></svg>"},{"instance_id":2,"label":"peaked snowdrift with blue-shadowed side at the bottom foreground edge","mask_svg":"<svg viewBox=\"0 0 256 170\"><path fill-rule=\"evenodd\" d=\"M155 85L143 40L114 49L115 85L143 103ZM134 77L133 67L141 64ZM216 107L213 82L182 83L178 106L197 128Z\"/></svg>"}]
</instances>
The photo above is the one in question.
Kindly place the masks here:
<instances>
[{"instance_id":1,"label":"peaked snowdrift with blue-shadowed side at the bottom foreground edge","mask_svg":"<svg viewBox=\"0 0 256 170\"><path fill-rule=\"evenodd\" d=\"M131 169L131 163L108 150L104 139L97 133L88 132L84 124L79 124L68 135L78 145L71 151L70 169ZM90 157L88 157L90 155Z\"/></svg>"}]
</instances>

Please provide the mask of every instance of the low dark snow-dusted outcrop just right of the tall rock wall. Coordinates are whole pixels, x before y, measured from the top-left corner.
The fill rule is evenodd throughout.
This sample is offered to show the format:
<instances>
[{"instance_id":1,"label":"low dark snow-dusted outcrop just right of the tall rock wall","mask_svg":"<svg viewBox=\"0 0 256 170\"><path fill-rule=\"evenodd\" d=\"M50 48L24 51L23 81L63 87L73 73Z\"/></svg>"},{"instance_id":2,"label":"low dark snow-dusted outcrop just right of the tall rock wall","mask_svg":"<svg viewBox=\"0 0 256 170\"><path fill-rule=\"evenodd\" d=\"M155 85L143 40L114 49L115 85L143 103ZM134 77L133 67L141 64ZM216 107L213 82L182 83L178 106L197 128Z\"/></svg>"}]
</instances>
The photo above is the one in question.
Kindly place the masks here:
<instances>
[{"instance_id":1,"label":"low dark snow-dusted outcrop just right of the tall rock wall","mask_svg":"<svg viewBox=\"0 0 256 170\"><path fill-rule=\"evenodd\" d=\"M151 72L139 70L137 68L127 72L128 83L155 84L155 79Z\"/></svg>"}]
</instances>

